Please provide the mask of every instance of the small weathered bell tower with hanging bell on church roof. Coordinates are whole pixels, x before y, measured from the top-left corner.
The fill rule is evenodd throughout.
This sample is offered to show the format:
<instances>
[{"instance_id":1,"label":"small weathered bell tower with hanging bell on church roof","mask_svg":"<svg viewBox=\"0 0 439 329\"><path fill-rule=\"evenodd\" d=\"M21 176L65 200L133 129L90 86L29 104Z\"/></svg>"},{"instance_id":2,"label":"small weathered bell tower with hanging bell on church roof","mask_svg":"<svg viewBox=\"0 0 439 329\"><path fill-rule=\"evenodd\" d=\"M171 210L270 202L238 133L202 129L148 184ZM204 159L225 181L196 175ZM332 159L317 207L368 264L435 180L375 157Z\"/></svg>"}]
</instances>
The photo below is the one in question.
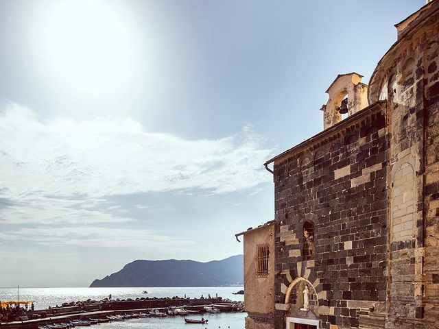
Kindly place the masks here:
<instances>
[{"instance_id":1,"label":"small weathered bell tower with hanging bell on church roof","mask_svg":"<svg viewBox=\"0 0 439 329\"><path fill-rule=\"evenodd\" d=\"M323 111L323 128L326 130L347 117L368 106L367 84L361 83L363 75L358 73L339 74L327 89L329 100Z\"/></svg>"}]
</instances>

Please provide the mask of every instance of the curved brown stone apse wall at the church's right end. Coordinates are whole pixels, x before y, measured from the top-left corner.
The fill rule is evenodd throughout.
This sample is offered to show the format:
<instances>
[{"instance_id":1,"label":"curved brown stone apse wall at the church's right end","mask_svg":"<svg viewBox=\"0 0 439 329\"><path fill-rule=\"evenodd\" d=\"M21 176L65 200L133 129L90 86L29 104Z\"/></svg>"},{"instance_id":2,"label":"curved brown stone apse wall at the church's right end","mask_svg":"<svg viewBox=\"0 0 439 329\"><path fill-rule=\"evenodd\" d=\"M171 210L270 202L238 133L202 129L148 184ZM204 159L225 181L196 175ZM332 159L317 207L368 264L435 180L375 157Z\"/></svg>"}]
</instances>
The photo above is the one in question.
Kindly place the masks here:
<instances>
[{"instance_id":1,"label":"curved brown stone apse wall at the church's right end","mask_svg":"<svg viewBox=\"0 0 439 329\"><path fill-rule=\"evenodd\" d=\"M438 19L423 20L380 67L390 136L388 329L439 328Z\"/></svg>"}]
</instances>

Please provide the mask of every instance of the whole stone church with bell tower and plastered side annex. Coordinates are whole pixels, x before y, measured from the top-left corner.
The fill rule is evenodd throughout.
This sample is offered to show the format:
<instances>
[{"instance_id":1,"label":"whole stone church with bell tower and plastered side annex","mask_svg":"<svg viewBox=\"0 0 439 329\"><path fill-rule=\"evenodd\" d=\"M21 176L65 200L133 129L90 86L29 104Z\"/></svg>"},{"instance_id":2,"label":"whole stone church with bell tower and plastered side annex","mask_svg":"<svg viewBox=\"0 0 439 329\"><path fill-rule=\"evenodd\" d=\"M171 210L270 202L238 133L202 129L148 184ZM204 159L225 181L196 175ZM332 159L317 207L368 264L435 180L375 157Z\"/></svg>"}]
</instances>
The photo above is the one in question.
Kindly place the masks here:
<instances>
[{"instance_id":1,"label":"whole stone church with bell tower and plastered side annex","mask_svg":"<svg viewBox=\"0 0 439 329\"><path fill-rule=\"evenodd\" d=\"M338 75L324 130L265 163L247 329L439 328L439 0L395 26L369 84Z\"/></svg>"}]
</instances>

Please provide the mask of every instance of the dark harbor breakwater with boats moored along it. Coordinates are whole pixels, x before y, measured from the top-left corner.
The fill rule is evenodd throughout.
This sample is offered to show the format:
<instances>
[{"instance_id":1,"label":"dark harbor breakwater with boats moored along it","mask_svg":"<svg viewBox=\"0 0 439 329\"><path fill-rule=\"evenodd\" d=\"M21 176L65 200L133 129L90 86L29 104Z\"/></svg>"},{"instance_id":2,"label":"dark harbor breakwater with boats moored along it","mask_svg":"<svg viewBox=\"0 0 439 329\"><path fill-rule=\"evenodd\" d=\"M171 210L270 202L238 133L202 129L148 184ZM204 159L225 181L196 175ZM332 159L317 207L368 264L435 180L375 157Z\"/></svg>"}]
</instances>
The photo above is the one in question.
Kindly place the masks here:
<instances>
[{"instance_id":1,"label":"dark harbor breakwater with boats moored along it","mask_svg":"<svg viewBox=\"0 0 439 329\"><path fill-rule=\"evenodd\" d=\"M68 304L68 303L65 303ZM72 306L47 308L43 310L19 309L10 317L12 321L1 322L1 328L71 328L71 326L91 326L108 321L125 321L139 317L182 317L197 316L202 319L205 313L227 313L244 310L243 302L215 298L181 297L141 297L136 300L86 300L70 303ZM191 321L186 321L192 323ZM204 323L204 322L202 322Z\"/></svg>"}]
</instances>

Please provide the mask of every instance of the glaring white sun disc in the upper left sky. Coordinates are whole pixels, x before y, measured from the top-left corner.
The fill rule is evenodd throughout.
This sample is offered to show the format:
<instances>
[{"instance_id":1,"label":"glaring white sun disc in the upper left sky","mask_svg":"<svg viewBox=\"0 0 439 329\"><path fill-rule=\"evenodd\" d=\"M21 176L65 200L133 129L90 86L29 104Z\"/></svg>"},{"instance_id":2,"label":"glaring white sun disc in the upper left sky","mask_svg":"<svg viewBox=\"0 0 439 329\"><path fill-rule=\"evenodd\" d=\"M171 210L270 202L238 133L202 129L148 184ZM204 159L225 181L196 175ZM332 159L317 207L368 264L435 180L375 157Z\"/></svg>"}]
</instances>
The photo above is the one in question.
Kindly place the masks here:
<instances>
[{"instance_id":1,"label":"glaring white sun disc in the upper left sky","mask_svg":"<svg viewBox=\"0 0 439 329\"><path fill-rule=\"evenodd\" d=\"M133 28L112 1L51 1L38 10L32 42L45 80L70 93L110 97L134 79Z\"/></svg>"}]
</instances>

